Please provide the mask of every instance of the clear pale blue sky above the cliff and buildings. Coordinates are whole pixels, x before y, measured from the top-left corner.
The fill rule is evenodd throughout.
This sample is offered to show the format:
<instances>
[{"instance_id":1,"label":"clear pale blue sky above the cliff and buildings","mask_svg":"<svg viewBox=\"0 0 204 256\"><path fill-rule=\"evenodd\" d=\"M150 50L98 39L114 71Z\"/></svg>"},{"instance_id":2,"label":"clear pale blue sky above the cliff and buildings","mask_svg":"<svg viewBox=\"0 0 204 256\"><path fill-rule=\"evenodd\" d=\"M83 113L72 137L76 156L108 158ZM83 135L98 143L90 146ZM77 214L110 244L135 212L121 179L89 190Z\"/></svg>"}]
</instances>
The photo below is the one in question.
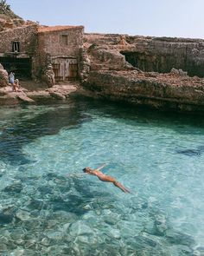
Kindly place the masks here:
<instances>
[{"instance_id":1,"label":"clear pale blue sky above the cliff and buildings","mask_svg":"<svg viewBox=\"0 0 204 256\"><path fill-rule=\"evenodd\" d=\"M42 25L83 25L86 33L204 38L204 0L7 0Z\"/></svg>"}]
</instances>

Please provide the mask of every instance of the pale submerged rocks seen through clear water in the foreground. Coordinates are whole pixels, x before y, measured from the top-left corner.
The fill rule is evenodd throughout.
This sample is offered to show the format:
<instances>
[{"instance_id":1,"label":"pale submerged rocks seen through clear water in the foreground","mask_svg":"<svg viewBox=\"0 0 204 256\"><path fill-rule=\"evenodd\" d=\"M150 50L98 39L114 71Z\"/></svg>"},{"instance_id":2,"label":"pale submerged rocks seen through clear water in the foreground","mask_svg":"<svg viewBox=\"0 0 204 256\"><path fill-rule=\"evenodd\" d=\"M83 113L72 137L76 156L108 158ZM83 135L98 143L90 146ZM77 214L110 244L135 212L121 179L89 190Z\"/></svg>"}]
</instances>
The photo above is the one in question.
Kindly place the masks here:
<instances>
[{"instance_id":1,"label":"pale submerged rocks seen through clear water in the foreground","mask_svg":"<svg viewBox=\"0 0 204 256\"><path fill-rule=\"evenodd\" d=\"M62 181L61 190L57 187L59 181ZM76 186L70 186L70 182L76 182ZM85 181L66 181L61 175L48 174L44 176L43 185L35 181L36 194L17 189L17 194L22 193L22 202L11 200L18 206L16 212L0 213L3 232L0 252L170 256L175 250L179 253L175 255L193 255L194 239L175 231L165 214L152 211L147 204L146 207L135 205L136 210L127 213L114 195L107 193L108 198L102 198L96 193L93 196L94 192L89 193L89 189L81 191L78 182ZM8 189L4 189L4 193ZM14 192L15 186L12 189ZM140 219L132 219L136 213L146 216L144 220L149 226L152 221L152 227L145 228L144 223L139 225Z\"/></svg>"}]
</instances>

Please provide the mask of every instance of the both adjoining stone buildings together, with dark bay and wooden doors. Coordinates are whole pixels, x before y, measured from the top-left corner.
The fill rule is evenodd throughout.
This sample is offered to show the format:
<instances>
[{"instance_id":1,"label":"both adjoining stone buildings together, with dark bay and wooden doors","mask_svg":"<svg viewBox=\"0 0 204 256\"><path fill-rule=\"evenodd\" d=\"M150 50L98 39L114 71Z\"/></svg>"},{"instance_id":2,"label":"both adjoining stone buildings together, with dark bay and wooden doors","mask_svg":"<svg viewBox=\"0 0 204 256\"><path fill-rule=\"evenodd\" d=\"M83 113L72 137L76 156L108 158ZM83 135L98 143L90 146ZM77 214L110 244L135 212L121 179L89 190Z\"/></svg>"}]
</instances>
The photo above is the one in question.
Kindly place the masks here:
<instances>
[{"instance_id":1,"label":"both adjoining stone buildings together, with dark bay and wooden doors","mask_svg":"<svg viewBox=\"0 0 204 256\"><path fill-rule=\"evenodd\" d=\"M52 64L55 81L79 75L83 26L40 26L37 23L0 32L0 63L16 76L40 79Z\"/></svg>"}]
</instances>

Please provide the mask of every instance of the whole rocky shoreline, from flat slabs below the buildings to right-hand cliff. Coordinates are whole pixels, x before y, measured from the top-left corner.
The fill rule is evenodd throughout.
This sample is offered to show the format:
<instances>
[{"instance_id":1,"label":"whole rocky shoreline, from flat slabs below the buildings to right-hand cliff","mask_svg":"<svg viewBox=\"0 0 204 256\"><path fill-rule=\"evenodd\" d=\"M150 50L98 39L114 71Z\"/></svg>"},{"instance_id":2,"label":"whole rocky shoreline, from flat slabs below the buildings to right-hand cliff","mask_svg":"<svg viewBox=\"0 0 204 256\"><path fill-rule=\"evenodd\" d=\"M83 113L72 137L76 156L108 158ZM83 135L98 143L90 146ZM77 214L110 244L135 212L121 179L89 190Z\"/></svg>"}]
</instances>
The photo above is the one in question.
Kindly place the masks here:
<instances>
[{"instance_id":1,"label":"whole rocky shoreline, from flat slabs below the buildings to right-hand cliff","mask_svg":"<svg viewBox=\"0 0 204 256\"><path fill-rule=\"evenodd\" d=\"M19 92L12 92L8 72L0 63L0 105L64 101L78 93L156 109L203 113L204 40L119 34L80 36L74 57L77 64L73 64L77 82L66 79L64 84L54 84L50 60L43 80L32 76L46 86L41 88L42 83L34 82L34 89L29 89L25 82Z\"/></svg>"}]
</instances>

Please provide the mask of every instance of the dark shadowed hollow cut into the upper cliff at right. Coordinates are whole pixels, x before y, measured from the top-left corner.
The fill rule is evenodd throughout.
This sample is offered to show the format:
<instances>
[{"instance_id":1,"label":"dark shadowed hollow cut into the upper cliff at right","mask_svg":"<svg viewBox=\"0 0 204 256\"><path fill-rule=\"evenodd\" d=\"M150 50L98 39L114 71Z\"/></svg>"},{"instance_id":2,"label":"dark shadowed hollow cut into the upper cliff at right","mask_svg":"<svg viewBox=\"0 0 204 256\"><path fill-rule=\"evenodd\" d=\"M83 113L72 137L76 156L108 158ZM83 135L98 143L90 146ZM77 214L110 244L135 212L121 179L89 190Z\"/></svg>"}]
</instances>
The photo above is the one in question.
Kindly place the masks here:
<instances>
[{"instance_id":1,"label":"dark shadowed hollow cut into the upper cliff at right","mask_svg":"<svg viewBox=\"0 0 204 256\"><path fill-rule=\"evenodd\" d=\"M204 77L204 63L195 62L187 55L152 55L147 52L120 51L126 62L145 72L169 73L171 69L182 69L189 76Z\"/></svg>"}]
</instances>

